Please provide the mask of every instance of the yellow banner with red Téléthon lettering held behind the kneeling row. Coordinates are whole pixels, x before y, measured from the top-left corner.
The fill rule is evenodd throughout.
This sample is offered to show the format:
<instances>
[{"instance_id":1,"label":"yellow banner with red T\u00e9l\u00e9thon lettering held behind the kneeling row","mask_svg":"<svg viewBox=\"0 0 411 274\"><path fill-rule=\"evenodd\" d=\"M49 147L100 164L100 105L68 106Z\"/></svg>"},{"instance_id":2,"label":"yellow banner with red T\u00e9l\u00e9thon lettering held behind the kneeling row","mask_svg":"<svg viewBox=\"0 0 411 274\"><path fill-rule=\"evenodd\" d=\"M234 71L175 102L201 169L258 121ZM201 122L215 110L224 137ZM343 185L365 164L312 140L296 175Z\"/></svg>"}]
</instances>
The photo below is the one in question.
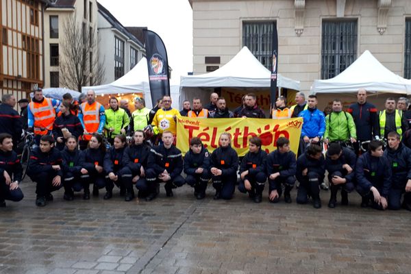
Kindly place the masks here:
<instances>
[{"instance_id":1,"label":"yellow banner with red T\u00e9l\u00e9thon lettering held behind the kneeling row","mask_svg":"<svg viewBox=\"0 0 411 274\"><path fill-rule=\"evenodd\" d=\"M290 140L290 148L297 154L301 135L302 118L292 119L256 119L256 118L228 118L228 119L197 119L177 117L177 148L185 154L190 149L190 140L199 137L203 145L212 152L219 147L219 137L223 132L232 136L232 148L239 156L248 151L248 140L252 136L259 136L262 140L262 149L267 153L277 148L279 137Z\"/></svg>"}]
</instances>

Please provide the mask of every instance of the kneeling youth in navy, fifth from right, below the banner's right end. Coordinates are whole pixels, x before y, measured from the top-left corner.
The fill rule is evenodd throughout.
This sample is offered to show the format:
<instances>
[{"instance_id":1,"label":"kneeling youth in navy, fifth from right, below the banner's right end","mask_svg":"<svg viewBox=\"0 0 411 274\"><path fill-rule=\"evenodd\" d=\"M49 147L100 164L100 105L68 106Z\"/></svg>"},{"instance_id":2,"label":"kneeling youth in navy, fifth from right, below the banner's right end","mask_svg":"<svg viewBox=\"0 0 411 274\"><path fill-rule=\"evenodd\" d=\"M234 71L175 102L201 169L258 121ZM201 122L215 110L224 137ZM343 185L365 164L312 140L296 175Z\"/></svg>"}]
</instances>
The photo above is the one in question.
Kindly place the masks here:
<instances>
[{"instance_id":1,"label":"kneeling youth in navy, fifth from right, below the banner's right end","mask_svg":"<svg viewBox=\"0 0 411 274\"><path fill-rule=\"evenodd\" d=\"M295 184L295 171L297 162L295 153L290 151L290 140L279 137L277 149L269 154L266 162L266 172L269 175L269 199L277 203L282 195L284 185L284 201L291 203L290 192Z\"/></svg>"}]
</instances>

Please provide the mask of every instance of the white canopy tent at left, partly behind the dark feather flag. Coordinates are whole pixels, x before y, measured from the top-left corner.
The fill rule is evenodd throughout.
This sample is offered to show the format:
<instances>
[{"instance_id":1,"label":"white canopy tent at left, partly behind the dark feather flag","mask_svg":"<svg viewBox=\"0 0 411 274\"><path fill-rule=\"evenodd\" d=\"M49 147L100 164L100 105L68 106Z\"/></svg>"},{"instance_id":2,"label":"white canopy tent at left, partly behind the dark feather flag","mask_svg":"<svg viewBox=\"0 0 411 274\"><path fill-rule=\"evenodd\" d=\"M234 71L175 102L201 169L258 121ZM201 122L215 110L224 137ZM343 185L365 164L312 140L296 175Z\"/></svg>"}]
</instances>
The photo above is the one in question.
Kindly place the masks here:
<instances>
[{"instance_id":1,"label":"white canopy tent at left, partly behind the dark feather flag","mask_svg":"<svg viewBox=\"0 0 411 274\"><path fill-rule=\"evenodd\" d=\"M116 79L116 81L111 84L82 87L82 92L87 92L87 90L94 90L96 95L122 95L140 92L145 98L147 108L153 107L151 105L149 72L147 69L147 59L145 57L143 57L131 71L123 77ZM170 92L173 100L173 108L178 109L179 86L170 86Z\"/></svg>"}]
</instances>

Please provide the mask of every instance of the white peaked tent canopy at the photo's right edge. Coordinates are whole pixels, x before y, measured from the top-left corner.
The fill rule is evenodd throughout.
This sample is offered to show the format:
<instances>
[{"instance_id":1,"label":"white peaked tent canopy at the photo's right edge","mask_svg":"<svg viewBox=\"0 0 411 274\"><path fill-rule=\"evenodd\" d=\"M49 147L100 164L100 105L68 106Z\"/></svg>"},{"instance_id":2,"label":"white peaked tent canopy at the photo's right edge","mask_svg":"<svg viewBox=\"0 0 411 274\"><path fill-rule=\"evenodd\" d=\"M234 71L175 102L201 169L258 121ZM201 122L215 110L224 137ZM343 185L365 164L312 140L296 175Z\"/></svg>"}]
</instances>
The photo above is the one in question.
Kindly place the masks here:
<instances>
[{"instance_id":1,"label":"white peaked tent canopy at the photo's right edge","mask_svg":"<svg viewBox=\"0 0 411 274\"><path fill-rule=\"evenodd\" d=\"M389 92L411 94L409 80L388 70L371 54L364 51L345 71L336 77L326 80L314 80L311 92L318 93L352 93L360 88L369 92Z\"/></svg>"}]
</instances>

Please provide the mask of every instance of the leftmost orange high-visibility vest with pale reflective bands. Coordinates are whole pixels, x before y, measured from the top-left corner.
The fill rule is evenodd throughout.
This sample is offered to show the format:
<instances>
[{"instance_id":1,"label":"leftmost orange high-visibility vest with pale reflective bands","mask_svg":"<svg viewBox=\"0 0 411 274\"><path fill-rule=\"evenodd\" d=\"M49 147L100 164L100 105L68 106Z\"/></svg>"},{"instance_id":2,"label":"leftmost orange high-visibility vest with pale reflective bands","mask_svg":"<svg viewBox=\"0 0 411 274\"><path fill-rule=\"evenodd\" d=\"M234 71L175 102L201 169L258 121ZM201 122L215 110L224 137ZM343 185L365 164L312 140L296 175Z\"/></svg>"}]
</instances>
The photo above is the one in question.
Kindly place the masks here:
<instances>
[{"instance_id":1,"label":"leftmost orange high-visibility vest with pale reflective bands","mask_svg":"<svg viewBox=\"0 0 411 274\"><path fill-rule=\"evenodd\" d=\"M53 129L55 110L51 99L45 98L42 103L32 101L30 110L34 116L34 134L45 135ZM45 130L41 130L40 127L45 128Z\"/></svg>"}]
</instances>

